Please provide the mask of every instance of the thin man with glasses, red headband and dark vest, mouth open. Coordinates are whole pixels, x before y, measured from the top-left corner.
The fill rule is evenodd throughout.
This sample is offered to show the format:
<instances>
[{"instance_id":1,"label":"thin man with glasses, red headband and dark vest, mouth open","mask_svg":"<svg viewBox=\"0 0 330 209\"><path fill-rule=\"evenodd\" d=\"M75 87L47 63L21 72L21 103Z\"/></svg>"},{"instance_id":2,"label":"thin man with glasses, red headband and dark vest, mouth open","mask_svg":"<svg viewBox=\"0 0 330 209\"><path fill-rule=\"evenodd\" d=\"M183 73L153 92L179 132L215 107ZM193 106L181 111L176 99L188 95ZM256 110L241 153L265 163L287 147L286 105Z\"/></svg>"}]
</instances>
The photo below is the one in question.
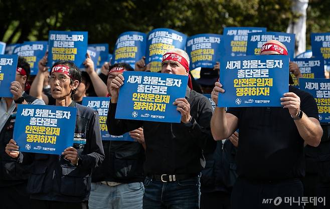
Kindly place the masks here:
<instances>
[{"instance_id":1,"label":"thin man with glasses, red headband and dark vest, mouth open","mask_svg":"<svg viewBox=\"0 0 330 209\"><path fill-rule=\"evenodd\" d=\"M22 164L33 162L28 180L32 208L88 208L92 170L104 159L97 111L72 100L81 83L81 72L72 62L60 61L50 73L52 97L57 106L76 107L75 138L62 155L20 152L11 139L6 152ZM16 200L17 201L17 200Z\"/></svg>"}]
</instances>

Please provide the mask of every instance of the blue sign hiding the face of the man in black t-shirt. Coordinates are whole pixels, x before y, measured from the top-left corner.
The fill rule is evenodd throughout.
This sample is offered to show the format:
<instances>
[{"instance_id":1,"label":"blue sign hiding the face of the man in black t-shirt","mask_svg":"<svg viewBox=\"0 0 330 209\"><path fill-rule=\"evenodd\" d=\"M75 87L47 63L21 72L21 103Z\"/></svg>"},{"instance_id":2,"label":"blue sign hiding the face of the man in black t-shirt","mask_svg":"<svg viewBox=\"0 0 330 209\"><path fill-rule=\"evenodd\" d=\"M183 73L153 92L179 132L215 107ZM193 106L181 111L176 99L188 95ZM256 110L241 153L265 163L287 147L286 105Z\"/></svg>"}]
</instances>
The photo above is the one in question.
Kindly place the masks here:
<instances>
[{"instance_id":1,"label":"blue sign hiding the face of the man in black t-shirt","mask_svg":"<svg viewBox=\"0 0 330 209\"><path fill-rule=\"evenodd\" d=\"M289 91L289 57L282 55L222 57L219 107L276 107Z\"/></svg>"}]
</instances>

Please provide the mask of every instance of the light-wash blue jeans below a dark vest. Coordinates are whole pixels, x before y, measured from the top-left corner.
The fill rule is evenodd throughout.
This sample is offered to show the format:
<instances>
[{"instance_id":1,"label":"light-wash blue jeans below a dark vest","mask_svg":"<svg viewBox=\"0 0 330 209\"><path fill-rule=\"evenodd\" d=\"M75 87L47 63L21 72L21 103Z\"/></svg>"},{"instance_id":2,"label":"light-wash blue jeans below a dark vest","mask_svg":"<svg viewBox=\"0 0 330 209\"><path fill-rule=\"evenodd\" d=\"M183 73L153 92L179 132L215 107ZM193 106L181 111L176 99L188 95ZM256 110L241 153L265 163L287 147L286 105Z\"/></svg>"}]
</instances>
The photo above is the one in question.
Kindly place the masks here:
<instances>
[{"instance_id":1,"label":"light-wash blue jeans below a dark vest","mask_svg":"<svg viewBox=\"0 0 330 209\"><path fill-rule=\"evenodd\" d=\"M144 187L142 182L108 186L101 182L91 184L90 209L141 209Z\"/></svg>"}]
</instances>

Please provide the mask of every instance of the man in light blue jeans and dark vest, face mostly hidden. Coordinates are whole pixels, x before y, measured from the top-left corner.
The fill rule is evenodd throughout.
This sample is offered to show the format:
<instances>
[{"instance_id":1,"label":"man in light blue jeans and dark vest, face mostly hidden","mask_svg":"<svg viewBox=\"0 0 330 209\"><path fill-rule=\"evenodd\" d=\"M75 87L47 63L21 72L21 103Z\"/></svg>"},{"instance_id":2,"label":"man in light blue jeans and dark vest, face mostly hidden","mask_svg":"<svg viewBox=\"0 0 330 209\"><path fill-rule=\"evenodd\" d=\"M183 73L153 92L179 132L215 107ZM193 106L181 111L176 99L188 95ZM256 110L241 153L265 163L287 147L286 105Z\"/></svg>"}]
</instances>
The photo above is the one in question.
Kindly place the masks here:
<instances>
[{"instance_id":1,"label":"man in light blue jeans and dark vest, face mostly hidden","mask_svg":"<svg viewBox=\"0 0 330 209\"><path fill-rule=\"evenodd\" d=\"M124 71L134 69L125 63L110 67L108 89L113 78ZM92 174L89 208L142 208L145 148L143 129L138 128L129 134L136 142L102 141L105 159Z\"/></svg>"}]
</instances>

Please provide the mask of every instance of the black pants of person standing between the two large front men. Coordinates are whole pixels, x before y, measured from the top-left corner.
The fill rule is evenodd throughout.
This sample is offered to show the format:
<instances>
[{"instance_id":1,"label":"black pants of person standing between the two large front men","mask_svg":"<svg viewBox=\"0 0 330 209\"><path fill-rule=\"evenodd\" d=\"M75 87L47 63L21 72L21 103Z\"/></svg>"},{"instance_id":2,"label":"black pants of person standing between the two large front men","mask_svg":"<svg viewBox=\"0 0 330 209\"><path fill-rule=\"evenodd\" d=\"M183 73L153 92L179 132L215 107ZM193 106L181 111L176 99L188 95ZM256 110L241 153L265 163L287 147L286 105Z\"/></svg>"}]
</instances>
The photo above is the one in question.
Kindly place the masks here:
<instances>
[{"instance_id":1,"label":"black pants of person standing between the two large front men","mask_svg":"<svg viewBox=\"0 0 330 209\"><path fill-rule=\"evenodd\" d=\"M202 192L201 209L229 209L230 194L223 191Z\"/></svg>"}]
</instances>

